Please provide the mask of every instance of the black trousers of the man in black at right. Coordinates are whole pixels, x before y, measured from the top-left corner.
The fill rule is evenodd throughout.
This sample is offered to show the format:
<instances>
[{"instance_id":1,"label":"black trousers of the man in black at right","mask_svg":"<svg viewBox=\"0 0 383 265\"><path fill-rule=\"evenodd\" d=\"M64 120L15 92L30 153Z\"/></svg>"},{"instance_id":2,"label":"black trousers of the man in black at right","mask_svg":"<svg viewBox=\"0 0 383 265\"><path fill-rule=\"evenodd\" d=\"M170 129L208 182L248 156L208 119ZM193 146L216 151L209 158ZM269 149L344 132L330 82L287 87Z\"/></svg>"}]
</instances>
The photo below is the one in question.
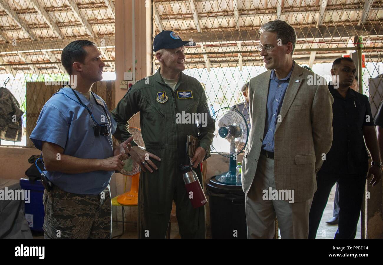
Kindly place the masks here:
<instances>
[{"instance_id":1,"label":"black trousers of the man in black at right","mask_svg":"<svg viewBox=\"0 0 383 265\"><path fill-rule=\"evenodd\" d=\"M355 238L362 208L366 174L327 174L318 172L309 215L309 238L315 238L324 208L334 184L339 187L338 231L335 238Z\"/></svg>"}]
</instances>

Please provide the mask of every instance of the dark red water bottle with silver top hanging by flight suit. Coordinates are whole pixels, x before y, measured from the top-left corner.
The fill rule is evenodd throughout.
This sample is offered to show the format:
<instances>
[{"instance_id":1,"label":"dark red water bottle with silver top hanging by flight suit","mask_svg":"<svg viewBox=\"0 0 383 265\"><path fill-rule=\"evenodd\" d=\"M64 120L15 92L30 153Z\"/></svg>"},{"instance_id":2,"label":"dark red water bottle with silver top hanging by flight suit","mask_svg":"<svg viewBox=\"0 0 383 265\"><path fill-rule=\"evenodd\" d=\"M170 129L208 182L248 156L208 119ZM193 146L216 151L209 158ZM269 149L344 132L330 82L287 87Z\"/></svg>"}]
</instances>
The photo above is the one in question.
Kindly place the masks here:
<instances>
[{"instance_id":1,"label":"dark red water bottle with silver top hanging by flight suit","mask_svg":"<svg viewBox=\"0 0 383 265\"><path fill-rule=\"evenodd\" d=\"M183 174L183 182L185 182L185 187L188 193L188 197L190 199L191 205L193 208L198 208L206 203L208 200L206 199L205 193L201 187L200 181L198 180L197 174L191 168L191 165L180 165L180 170Z\"/></svg>"}]
</instances>

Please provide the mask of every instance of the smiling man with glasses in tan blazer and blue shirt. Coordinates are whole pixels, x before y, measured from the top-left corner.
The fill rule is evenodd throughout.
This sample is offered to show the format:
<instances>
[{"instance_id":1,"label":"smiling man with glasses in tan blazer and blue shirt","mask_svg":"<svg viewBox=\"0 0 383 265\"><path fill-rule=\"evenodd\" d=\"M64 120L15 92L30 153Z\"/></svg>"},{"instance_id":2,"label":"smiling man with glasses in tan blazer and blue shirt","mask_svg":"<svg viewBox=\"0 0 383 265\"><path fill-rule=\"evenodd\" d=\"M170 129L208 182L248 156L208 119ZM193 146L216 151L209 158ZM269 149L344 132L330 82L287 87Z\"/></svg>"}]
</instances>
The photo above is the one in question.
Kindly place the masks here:
<instances>
[{"instance_id":1,"label":"smiling man with glasses in tan blazer and blue shirt","mask_svg":"<svg viewBox=\"0 0 383 265\"><path fill-rule=\"evenodd\" d=\"M243 160L249 238L307 238L316 172L332 144L333 98L326 81L292 59L295 30L285 21L260 28L268 71L249 85L251 130Z\"/></svg>"}]
</instances>

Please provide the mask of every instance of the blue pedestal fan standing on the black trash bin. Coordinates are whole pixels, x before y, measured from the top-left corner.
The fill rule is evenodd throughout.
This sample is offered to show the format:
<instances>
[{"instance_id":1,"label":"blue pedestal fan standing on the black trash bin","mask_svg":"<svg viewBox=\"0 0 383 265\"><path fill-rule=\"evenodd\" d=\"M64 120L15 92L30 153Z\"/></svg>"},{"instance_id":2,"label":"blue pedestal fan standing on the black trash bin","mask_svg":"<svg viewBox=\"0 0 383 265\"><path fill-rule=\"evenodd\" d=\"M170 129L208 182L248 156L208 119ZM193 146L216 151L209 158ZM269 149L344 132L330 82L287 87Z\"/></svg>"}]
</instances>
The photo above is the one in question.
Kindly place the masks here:
<instances>
[{"instance_id":1,"label":"blue pedestal fan standing on the black trash bin","mask_svg":"<svg viewBox=\"0 0 383 265\"><path fill-rule=\"evenodd\" d=\"M249 135L245 117L236 109L223 107L213 115L216 120L213 149L230 159L229 171L216 179L224 184L240 186L236 178L237 154L244 150Z\"/></svg>"}]
</instances>

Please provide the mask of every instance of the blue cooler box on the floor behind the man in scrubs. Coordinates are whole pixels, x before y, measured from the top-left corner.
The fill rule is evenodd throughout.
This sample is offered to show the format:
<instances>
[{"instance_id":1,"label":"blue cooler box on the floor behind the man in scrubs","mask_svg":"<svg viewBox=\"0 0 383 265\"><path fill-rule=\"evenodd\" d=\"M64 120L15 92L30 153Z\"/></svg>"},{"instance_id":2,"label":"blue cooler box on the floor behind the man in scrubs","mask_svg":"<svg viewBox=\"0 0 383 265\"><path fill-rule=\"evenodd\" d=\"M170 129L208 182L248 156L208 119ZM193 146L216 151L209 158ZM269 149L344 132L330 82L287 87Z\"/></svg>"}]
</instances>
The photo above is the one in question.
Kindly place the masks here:
<instances>
[{"instance_id":1,"label":"blue cooler box on the floor behind the man in scrubs","mask_svg":"<svg viewBox=\"0 0 383 265\"><path fill-rule=\"evenodd\" d=\"M41 180L34 182L29 181L29 178L20 179L20 187L24 190L31 190L30 202L25 204L25 218L28 221L29 228L34 231L43 232L44 224L44 205L43 194L44 186Z\"/></svg>"}]
</instances>

